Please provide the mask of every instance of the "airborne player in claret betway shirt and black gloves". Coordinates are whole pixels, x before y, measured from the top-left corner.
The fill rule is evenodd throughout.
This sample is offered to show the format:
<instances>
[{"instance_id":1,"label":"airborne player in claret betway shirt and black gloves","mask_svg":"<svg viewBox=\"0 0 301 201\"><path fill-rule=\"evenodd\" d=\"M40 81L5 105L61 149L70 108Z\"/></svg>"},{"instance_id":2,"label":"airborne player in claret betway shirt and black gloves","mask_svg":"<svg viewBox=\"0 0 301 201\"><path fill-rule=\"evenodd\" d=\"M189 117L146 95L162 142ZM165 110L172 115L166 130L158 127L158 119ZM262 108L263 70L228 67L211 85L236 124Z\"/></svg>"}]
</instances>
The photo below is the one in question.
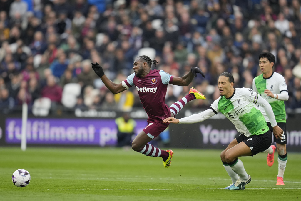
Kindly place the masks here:
<instances>
[{"instance_id":1,"label":"airborne player in claret betway shirt and black gloves","mask_svg":"<svg viewBox=\"0 0 301 201\"><path fill-rule=\"evenodd\" d=\"M172 150L158 149L149 144L149 142L168 127L169 123L163 123L163 119L171 115L175 116L191 100L206 98L192 87L184 98L168 108L165 104L167 84L188 86L193 78L197 76L197 73L200 73L203 77L205 75L199 68L192 67L188 74L182 77L174 77L163 70L151 70L152 63L157 65L158 61L155 59L151 60L145 55L139 56L134 61L134 73L118 84L107 78L98 63L92 63L92 68L101 78L104 85L114 94L127 90L132 86L135 87L143 108L148 115L148 125L135 137L132 142L132 149L147 156L162 157L163 166L168 168L173 156Z\"/></svg>"}]
</instances>

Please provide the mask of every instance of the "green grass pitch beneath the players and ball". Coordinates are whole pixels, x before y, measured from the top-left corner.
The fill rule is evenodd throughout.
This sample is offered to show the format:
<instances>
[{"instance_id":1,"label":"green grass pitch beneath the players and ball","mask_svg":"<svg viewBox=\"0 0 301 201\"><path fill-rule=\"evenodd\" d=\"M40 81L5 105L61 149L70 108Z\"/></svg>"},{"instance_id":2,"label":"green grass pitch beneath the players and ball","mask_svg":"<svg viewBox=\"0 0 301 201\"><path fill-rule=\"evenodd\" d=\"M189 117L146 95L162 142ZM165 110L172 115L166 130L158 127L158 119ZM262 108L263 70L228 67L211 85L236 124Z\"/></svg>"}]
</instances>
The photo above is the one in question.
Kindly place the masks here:
<instances>
[{"instance_id":1,"label":"green grass pitch beneath the players and ball","mask_svg":"<svg viewBox=\"0 0 301 201\"><path fill-rule=\"evenodd\" d=\"M266 154L240 157L252 181L231 191L221 151L173 149L164 168L160 157L119 148L0 147L0 200L301 200L301 153L288 152L284 186L276 186L277 152L272 167ZM24 188L11 180L19 168L31 175Z\"/></svg>"}]
</instances>

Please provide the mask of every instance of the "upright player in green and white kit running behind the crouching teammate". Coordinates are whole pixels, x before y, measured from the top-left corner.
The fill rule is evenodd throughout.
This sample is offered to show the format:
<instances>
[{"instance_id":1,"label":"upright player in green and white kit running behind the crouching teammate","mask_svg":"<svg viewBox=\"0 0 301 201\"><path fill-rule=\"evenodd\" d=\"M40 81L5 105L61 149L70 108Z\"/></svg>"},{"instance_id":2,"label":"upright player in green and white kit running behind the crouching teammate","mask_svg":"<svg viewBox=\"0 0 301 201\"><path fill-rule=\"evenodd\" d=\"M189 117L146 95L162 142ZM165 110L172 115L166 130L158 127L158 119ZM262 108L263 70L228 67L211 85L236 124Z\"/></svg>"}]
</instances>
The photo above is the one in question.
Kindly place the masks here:
<instances>
[{"instance_id":1,"label":"upright player in green and white kit running behind the crouching teammate","mask_svg":"<svg viewBox=\"0 0 301 201\"><path fill-rule=\"evenodd\" d=\"M259 55L259 68L262 74L253 79L253 90L270 103L278 126L284 130L284 134L281 138L274 138L278 151L278 175L276 185L284 185L283 175L287 163L286 113L284 101L288 100L288 92L284 77L273 71L274 63L275 56L272 53L262 52ZM271 129L271 123L265 110L261 106L259 106L259 110ZM264 153L268 152L268 166L272 166L274 163L275 149L275 145L272 145L264 151Z\"/></svg>"}]
</instances>

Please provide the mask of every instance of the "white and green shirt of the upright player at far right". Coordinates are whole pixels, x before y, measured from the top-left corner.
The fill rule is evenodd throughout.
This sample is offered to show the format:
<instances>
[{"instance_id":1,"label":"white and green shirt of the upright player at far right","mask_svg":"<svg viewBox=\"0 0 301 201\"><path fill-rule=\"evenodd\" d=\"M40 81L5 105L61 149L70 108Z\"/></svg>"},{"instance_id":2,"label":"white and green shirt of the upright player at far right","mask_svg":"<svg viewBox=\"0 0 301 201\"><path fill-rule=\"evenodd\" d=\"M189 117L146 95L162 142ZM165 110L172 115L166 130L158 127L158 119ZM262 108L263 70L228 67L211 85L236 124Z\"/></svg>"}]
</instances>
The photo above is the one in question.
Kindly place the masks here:
<instances>
[{"instance_id":1,"label":"white and green shirt of the upright player at far right","mask_svg":"<svg viewBox=\"0 0 301 201\"><path fill-rule=\"evenodd\" d=\"M271 77L268 78L264 78L263 74L261 74L253 79L253 90L270 103L277 122L286 122L284 101L265 95L265 89L270 90L274 94L280 94L282 91L287 91L284 77L276 72L273 72ZM265 117L265 120L270 122L265 110L261 106L259 106L259 110Z\"/></svg>"}]
</instances>

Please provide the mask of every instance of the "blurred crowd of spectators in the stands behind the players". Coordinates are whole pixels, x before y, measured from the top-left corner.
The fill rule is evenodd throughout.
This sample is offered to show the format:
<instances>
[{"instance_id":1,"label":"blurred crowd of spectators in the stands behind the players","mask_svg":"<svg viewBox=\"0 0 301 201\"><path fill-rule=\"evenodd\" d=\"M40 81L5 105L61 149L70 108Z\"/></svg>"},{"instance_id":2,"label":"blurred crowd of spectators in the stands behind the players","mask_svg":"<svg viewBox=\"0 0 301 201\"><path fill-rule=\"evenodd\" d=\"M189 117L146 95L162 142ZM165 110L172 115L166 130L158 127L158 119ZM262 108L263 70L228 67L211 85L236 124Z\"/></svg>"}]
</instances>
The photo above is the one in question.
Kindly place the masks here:
<instances>
[{"instance_id":1,"label":"blurred crowd of spectators in the stands behind the players","mask_svg":"<svg viewBox=\"0 0 301 201\"><path fill-rule=\"evenodd\" d=\"M41 98L53 111L142 107L134 87L114 95L91 66L98 62L119 83L133 73L141 50L159 61L153 69L182 76L197 66L206 75L169 86L168 106L194 86L207 99L186 107L208 108L225 71L234 87L252 88L261 74L258 55L269 51L287 83L286 108L301 108L299 0L0 0L0 47L2 113ZM79 93L64 103L70 83Z\"/></svg>"}]
</instances>

